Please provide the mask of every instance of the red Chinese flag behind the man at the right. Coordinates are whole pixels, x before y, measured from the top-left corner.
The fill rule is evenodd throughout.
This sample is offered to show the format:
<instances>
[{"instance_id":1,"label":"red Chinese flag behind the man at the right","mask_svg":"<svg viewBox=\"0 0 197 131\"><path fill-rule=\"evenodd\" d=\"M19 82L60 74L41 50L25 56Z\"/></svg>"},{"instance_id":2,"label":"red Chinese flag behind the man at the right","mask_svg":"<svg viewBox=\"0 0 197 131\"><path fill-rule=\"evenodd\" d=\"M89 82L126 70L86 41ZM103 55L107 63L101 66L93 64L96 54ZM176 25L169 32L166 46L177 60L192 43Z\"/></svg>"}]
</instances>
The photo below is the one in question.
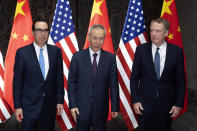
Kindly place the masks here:
<instances>
[{"instance_id":1,"label":"red Chinese flag behind the man at the right","mask_svg":"<svg viewBox=\"0 0 197 131\"><path fill-rule=\"evenodd\" d=\"M181 39L181 29L179 26L179 20L178 20L177 11L176 11L175 0L164 0L163 1L161 18L168 20L170 23L170 30L169 30L168 37L166 38L166 41L183 48L183 42ZM185 64L185 72L186 72L185 55L184 55L184 64ZM186 73L185 73L185 75L186 75ZM187 77L185 77L185 78L187 78ZM187 106L188 106L187 103L188 102L187 102L187 84L186 84L184 108L182 109L179 116L187 111Z\"/></svg>"}]
</instances>

